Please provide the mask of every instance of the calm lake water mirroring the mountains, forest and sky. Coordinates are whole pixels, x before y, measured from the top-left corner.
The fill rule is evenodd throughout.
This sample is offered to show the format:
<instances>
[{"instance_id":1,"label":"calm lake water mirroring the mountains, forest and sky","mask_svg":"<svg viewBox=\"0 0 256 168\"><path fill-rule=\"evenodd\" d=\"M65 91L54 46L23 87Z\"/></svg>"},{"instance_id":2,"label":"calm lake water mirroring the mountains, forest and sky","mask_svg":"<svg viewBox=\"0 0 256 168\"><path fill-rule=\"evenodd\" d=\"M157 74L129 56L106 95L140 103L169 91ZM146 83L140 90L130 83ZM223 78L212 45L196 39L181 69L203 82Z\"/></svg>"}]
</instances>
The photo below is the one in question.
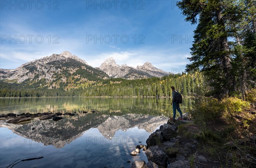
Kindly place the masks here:
<instances>
[{"instance_id":1,"label":"calm lake water mirroring the mountains, forest and sky","mask_svg":"<svg viewBox=\"0 0 256 168\"><path fill-rule=\"evenodd\" d=\"M0 113L72 112L62 120L9 124L0 120L0 167L13 168L118 168L145 160L145 152L133 157L135 146L172 115L171 99L157 98L6 98ZM185 113L192 101L185 98ZM88 111L84 114L82 111ZM96 111L91 113L90 111ZM32 129L33 128L33 129ZM43 157L38 160L24 159ZM16 162L15 162L16 161ZM12 165L10 166L12 167Z\"/></svg>"}]
</instances>

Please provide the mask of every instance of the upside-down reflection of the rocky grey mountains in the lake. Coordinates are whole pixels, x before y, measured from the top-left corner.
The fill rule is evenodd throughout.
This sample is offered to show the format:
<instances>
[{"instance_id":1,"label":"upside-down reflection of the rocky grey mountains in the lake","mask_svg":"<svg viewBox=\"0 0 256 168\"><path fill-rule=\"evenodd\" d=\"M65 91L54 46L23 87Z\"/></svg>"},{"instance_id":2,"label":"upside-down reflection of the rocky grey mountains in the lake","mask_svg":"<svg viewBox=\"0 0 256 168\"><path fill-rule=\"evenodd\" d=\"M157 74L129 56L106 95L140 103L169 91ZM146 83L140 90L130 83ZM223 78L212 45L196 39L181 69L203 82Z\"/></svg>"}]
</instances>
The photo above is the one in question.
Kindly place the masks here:
<instances>
[{"instance_id":1,"label":"upside-down reflection of the rocky grey mountains in the lake","mask_svg":"<svg viewBox=\"0 0 256 168\"><path fill-rule=\"evenodd\" d=\"M63 148L65 144L81 137L84 132L91 128L98 129L104 138L111 139L118 130L125 132L130 128L138 127L138 129L144 129L146 132L151 133L157 126L165 122L165 118L152 115L126 114L115 116L89 113L64 116L59 121L35 118L23 125L0 120L0 125L7 127L15 134L37 143L43 143L46 146L53 145L55 148Z\"/></svg>"}]
</instances>

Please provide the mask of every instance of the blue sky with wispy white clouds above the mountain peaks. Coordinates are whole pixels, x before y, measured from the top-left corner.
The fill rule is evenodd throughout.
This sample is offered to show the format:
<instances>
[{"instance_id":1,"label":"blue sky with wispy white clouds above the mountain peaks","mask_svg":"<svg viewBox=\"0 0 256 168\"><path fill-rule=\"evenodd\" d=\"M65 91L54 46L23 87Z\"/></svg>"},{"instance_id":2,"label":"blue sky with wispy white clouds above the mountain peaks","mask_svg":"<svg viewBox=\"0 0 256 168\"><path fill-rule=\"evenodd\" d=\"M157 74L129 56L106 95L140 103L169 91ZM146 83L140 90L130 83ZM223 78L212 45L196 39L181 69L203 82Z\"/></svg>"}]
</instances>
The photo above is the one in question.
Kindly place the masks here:
<instances>
[{"instance_id":1,"label":"blue sky with wispy white clouds above the mountain peaks","mask_svg":"<svg viewBox=\"0 0 256 168\"><path fill-rule=\"evenodd\" d=\"M185 70L195 25L172 0L0 1L0 68L15 69L65 50L99 67L113 57Z\"/></svg>"}]
</instances>

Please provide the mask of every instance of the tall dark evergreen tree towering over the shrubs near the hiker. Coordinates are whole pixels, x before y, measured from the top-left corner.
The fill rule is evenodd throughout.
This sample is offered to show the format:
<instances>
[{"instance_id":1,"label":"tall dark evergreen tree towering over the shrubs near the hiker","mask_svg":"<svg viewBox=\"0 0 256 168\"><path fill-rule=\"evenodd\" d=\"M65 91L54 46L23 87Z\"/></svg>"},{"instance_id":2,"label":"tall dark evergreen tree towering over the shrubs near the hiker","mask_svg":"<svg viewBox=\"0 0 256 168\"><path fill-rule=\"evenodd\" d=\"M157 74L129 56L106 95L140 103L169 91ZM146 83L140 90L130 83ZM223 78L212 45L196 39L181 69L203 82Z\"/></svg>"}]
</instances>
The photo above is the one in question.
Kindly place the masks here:
<instances>
[{"instance_id":1,"label":"tall dark evergreen tree towering over the shrubs near the hiker","mask_svg":"<svg viewBox=\"0 0 256 168\"><path fill-rule=\"evenodd\" d=\"M177 6L186 21L196 24L192 57L186 70L200 68L215 89L216 97L229 95L234 90L228 22L238 20L236 0L181 0Z\"/></svg>"}]
</instances>

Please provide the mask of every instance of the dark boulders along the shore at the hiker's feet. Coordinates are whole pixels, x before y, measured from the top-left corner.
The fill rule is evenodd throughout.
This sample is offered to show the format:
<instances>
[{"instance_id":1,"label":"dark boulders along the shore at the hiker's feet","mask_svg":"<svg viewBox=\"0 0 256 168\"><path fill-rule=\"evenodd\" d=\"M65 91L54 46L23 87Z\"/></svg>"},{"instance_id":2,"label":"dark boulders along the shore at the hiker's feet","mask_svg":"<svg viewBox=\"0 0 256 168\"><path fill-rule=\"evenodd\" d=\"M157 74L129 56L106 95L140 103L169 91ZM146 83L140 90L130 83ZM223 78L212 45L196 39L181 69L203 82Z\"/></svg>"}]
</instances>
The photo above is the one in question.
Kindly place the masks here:
<instances>
[{"instance_id":1,"label":"dark boulders along the shore at the hiker's feet","mask_svg":"<svg viewBox=\"0 0 256 168\"><path fill-rule=\"evenodd\" d=\"M136 146L139 149L143 148L148 162L135 161L131 168L217 168L218 164L198 154L199 142L183 136L181 129L194 134L201 132L192 121L176 121L161 125L160 129L148 137L146 146ZM136 155L138 152L133 151L131 155L134 156L133 154Z\"/></svg>"}]
</instances>

